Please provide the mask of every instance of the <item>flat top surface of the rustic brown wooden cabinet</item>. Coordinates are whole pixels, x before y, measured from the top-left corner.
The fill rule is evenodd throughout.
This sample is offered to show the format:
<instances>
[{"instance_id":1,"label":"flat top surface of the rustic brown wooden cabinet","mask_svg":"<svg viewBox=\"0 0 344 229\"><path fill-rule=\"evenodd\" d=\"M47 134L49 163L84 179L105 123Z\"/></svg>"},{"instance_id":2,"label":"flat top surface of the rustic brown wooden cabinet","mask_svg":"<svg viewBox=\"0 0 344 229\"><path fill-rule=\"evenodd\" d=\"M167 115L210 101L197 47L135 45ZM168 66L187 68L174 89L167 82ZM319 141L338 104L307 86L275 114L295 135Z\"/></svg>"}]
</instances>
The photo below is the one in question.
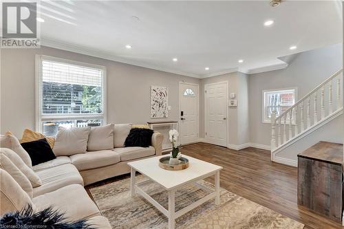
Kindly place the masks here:
<instances>
[{"instance_id":1,"label":"flat top surface of the rustic brown wooden cabinet","mask_svg":"<svg viewBox=\"0 0 344 229\"><path fill-rule=\"evenodd\" d=\"M343 164L343 144L333 142L318 142L297 155L331 164Z\"/></svg>"}]
</instances>

